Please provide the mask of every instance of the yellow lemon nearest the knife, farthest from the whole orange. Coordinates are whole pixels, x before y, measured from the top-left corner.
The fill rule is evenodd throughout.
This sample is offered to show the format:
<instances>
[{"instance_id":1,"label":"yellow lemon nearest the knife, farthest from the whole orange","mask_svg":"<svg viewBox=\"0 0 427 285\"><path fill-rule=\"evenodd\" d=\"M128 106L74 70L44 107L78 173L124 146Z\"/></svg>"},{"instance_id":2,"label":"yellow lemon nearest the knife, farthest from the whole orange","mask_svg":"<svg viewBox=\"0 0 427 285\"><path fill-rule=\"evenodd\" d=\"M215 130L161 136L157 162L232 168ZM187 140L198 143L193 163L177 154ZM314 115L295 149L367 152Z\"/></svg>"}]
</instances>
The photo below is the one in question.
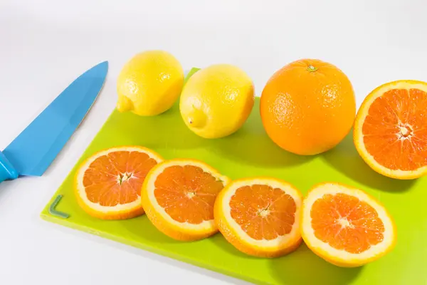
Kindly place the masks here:
<instances>
[{"instance_id":1,"label":"yellow lemon nearest the knife, farthest from the whole orange","mask_svg":"<svg viewBox=\"0 0 427 285\"><path fill-rule=\"evenodd\" d=\"M167 51L137 53L117 78L117 110L150 116L174 105L184 84L181 63Z\"/></svg>"}]
</instances>

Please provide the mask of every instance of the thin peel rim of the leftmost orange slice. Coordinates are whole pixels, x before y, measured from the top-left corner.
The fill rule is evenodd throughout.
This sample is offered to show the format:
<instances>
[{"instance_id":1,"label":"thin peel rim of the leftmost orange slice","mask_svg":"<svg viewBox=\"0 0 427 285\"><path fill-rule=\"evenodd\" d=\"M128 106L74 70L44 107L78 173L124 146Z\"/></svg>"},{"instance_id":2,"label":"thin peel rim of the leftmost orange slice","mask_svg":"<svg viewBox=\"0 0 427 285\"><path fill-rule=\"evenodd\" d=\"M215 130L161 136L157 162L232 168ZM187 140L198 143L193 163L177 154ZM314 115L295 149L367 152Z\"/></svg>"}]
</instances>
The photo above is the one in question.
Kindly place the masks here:
<instances>
[{"instance_id":1,"label":"thin peel rim of the leftmost orange slice","mask_svg":"<svg viewBox=\"0 0 427 285\"><path fill-rule=\"evenodd\" d=\"M124 145L122 146L123 148L125 147L135 147L135 148L139 148L141 149L143 152L149 152L154 154L155 157L157 157L157 162L161 162L163 160L163 158L157 153L154 152L153 150L149 150L147 147L140 147L138 145ZM107 150L107 149L105 149ZM90 160L91 157L94 157L96 155L98 155L100 152L104 152L105 150L100 150L98 152L95 152L93 155L91 155L90 157L88 157L85 161L82 162L81 165L85 165L86 162L88 162L88 160ZM90 216L98 218L98 219L132 219L135 217L139 217L142 214L144 214L144 209L142 208L142 206L139 207L134 207L134 208L130 208L130 209L124 209L120 212L98 212L95 211L94 209L92 209L91 207L89 207L87 204L85 204L85 202L83 202L82 197L80 197L80 195L78 194L78 172L77 171L75 173L75 178L74 178L74 194L75 197L77 199L78 205L88 214L90 214Z\"/></svg>"}]
</instances>

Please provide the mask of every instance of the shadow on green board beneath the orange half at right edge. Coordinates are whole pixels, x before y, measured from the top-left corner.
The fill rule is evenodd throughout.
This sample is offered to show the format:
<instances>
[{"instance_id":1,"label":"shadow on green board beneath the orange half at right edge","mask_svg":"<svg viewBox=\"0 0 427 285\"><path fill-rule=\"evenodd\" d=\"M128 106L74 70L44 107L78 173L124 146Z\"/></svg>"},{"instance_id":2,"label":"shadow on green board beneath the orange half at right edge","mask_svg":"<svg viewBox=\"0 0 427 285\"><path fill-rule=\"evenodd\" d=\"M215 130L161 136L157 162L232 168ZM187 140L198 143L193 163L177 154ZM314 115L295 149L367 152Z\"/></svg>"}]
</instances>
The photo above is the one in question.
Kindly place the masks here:
<instances>
[{"instance_id":1,"label":"shadow on green board beneath the orange half at right edge","mask_svg":"<svg viewBox=\"0 0 427 285\"><path fill-rule=\"evenodd\" d=\"M325 152L322 158L335 170L367 187L387 192L404 192L413 186L416 180L392 179L372 170L354 147L352 135L351 130L339 145Z\"/></svg>"}]
</instances>

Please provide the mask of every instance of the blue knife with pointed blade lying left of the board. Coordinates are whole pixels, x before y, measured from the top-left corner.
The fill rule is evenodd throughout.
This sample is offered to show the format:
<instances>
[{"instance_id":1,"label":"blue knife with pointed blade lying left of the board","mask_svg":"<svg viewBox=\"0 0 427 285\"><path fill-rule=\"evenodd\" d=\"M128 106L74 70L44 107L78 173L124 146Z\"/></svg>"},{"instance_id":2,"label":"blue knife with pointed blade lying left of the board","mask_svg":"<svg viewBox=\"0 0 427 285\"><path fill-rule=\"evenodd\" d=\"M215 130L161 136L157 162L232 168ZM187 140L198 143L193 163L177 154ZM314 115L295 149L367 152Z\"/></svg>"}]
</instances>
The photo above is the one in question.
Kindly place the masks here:
<instances>
[{"instance_id":1,"label":"blue knife with pointed blade lying left of the board","mask_svg":"<svg viewBox=\"0 0 427 285\"><path fill-rule=\"evenodd\" d=\"M0 182L43 175L92 107L107 71L107 61L85 71L0 151Z\"/></svg>"}]
</instances>

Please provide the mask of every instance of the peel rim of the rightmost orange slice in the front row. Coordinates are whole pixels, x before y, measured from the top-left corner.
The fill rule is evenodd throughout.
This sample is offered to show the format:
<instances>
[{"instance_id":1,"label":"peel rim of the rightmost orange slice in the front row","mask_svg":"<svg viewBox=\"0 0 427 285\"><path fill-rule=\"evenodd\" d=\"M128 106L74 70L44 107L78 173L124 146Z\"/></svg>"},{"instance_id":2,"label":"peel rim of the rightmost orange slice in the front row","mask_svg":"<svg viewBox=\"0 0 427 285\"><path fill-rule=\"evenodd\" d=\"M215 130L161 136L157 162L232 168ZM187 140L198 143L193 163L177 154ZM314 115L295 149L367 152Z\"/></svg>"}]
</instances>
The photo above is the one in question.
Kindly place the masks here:
<instances>
[{"instance_id":1,"label":"peel rim of the rightmost orange slice in the front row","mask_svg":"<svg viewBox=\"0 0 427 285\"><path fill-rule=\"evenodd\" d=\"M317 183L316 185L313 185L313 187L308 190L307 195L305 195L305 197L307 197L308 195L310 195L310 192L312 192L312 190L314 190L317 187L321 187L322 185L327 185L329 183L332 184L336 184L336 185L341 185L343 187L349 188L349 189L354 189L355 187L351 187L349 185L345 185L344 183L339 183L339 182L320 182ZM366 195L369 196L370 199L376 201L379 203L378 199L374 198L372 195L369 195L369 193L365 192ZM394 249L394 247L396 246L396 239L393 240L393 244L391 244L391 247L389 247L388 250L386 250L385 252L381 252L381 254L378 254L374 257L371 257L369 259L366 259L364 262L359 262L359 261L352 261L349 260L347 262L343 262L340 261L339 259L335 258L332 254L329 254L328 252L325 252L323 249L319 249L317 247L314 247L312 244L312 241L310 241L310 239L307 238L307 234L304 230L303 225L307 222L308 217L305 217L304 212L305 212L305 207L307 207L307 205L305 204L305 199L302 201L302 219L300 220L301 226L301 235L302 235L302 239L304 240L304 243L307 245L307 247L314 253L316 254L318 257L325 259L325 261L330 262L330 264L334 264L336 266L340 266L340 267L358 267L358 266L362 266L364 264L368 264L369 262L375 261L376 259L379 259L380 257L383 257L384 255L386 255L387 253L391 252L392 249ZM384 208L385 209L385 208ZM385 209L386 210L386 209ZM387 210L386 210L387 212ZM389 212L387 212L388 216L391 217L391 215L389 214ZM393 224L393 231L394 231L394 235L396 236L396 232L397 232L397 228L396 228L396 224L394 222L394 219L391 219L391 222Z\"/></svg>"}]
</instances>

